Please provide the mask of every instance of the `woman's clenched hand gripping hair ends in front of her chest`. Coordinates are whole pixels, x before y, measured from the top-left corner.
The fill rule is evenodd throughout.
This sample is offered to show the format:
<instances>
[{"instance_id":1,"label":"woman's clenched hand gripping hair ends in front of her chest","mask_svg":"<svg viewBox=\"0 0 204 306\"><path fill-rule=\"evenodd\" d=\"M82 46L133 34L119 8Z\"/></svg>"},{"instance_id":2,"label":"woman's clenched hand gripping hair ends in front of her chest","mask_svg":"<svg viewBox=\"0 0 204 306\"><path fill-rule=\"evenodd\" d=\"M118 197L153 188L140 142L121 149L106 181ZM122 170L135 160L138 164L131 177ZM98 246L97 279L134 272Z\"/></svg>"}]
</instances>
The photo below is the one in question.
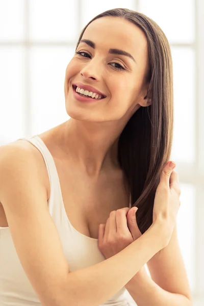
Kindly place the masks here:
<instances>
[{"instance_id":1,"label":"woman's clenched hand gripping hair ends in front of her chest","mask_svg":"<svg viewBox=\"0 0 204 306\"><path fill-rule=\"evenodd\" d=\"M136 207L112 211L98 230L98 248L108 259L138 239L142 234L136 220Z\"/></svg>"}]
</instances>

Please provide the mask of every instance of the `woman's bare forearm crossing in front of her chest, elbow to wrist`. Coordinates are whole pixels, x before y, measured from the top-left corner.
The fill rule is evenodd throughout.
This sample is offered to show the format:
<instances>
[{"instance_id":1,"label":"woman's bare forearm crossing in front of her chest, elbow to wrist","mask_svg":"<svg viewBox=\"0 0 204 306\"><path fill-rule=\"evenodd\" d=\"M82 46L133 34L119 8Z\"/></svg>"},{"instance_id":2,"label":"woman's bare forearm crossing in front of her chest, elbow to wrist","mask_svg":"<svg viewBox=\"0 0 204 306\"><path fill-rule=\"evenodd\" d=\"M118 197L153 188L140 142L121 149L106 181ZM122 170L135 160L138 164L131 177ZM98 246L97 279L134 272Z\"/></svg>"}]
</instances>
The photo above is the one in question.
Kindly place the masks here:
<instances>
[{"instance_id":1,"label":"woman's bare forearm crossing in front of her chest, elbow to wrist","mask_svg":"<svg viewBox=\"0 0 204 306\"><path fill-rule=\"evenodd\" d=\"M64 291L74 293L79 301L79 304L73 301L71 305L98 306L107 301L164 247L163 240L161 226L152 224L140 238L114 256L91 267L70 272ZM62 305L65 306L66 302Z\"/></svg>"}]
</instances>

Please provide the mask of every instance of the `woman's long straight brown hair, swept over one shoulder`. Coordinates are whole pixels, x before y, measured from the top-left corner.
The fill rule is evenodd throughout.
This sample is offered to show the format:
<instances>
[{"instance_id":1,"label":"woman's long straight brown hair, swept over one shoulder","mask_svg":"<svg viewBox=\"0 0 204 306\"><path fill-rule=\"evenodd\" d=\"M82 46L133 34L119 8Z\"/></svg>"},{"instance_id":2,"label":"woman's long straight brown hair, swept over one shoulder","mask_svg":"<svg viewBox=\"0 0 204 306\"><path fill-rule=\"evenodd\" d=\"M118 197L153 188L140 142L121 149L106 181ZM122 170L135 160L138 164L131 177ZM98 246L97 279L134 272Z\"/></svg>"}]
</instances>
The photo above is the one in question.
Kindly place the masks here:
<instances>
[{"instance_id":1,"label":"woman's long straight brown hair, swept over one shoulder","mask_svg":"<svg viewBox=\"0 0 204 306\"><path fill-rule=\"evenodd\" d=\"M149 69L144 82L149 82L147 100L126 123L118 141L118 161L126 176L131 206L137 206L137 223L143 234L152 223L152 211L160 174L169 161L173 137L173 77L168 40L158 24L142 13L129 9L112 9L94 17L113 16L134 23L146 35ZM76 50L77 50L76 47Z\"/></svg>"}]
</instances>

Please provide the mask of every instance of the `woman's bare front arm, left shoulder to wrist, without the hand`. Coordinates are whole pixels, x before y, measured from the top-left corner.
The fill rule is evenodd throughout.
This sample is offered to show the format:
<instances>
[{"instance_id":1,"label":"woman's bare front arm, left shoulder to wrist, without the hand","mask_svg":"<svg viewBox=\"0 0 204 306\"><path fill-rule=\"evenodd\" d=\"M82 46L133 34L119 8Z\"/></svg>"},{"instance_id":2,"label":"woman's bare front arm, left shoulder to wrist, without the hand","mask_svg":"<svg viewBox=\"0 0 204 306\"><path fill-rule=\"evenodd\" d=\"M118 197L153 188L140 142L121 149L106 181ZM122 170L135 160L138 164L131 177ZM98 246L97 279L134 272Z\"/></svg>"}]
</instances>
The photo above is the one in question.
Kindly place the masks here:
<instances>
[{"instance_id":1,"label":"woman's bare front arm, left shoulder to wrist, without the hand","mask_svg":"<svg viewBox=\"0 0 204 306\"><path fill-rule=\"evenodd\" d=\"M40 169L30 149L20 144L0 148L0 200L21 265L43 306L97 306L166 246L163 225L151 225L103 262L69 272Z\"/></svg>"}]
</instances>

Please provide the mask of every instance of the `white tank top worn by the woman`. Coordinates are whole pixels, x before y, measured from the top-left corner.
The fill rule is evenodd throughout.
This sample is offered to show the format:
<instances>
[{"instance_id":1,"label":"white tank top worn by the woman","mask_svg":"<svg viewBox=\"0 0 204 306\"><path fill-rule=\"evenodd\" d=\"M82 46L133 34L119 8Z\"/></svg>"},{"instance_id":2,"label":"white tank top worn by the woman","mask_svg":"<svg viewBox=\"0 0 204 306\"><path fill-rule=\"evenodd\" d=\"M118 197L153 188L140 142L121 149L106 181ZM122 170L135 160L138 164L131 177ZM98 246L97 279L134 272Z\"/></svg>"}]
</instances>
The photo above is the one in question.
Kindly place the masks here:
<instances>
[{"instance_id":1,"label":"white tank top worn by the woman","mask_svg":"<svg viewBox=\"0 0 204 306\"><path fill-rule=\"evenodd\" d=\"M90 238L75 230L65 212L60 181L53 156L42 139L35 135L18 140L31 142L41 152L46 164L50 183L48 210L60 235L69 270L83 269L105 260L98 249L98 239ZM131 203L130 203L131 207ZM25 228L26 231L26 228ZM103 305L127 306L129 292L123 287ZM0 305L40 306L27 275L18 259L9 227L0 226ZM102 305L99 305L102 306Z\"/></svg>"}]
</instances>

